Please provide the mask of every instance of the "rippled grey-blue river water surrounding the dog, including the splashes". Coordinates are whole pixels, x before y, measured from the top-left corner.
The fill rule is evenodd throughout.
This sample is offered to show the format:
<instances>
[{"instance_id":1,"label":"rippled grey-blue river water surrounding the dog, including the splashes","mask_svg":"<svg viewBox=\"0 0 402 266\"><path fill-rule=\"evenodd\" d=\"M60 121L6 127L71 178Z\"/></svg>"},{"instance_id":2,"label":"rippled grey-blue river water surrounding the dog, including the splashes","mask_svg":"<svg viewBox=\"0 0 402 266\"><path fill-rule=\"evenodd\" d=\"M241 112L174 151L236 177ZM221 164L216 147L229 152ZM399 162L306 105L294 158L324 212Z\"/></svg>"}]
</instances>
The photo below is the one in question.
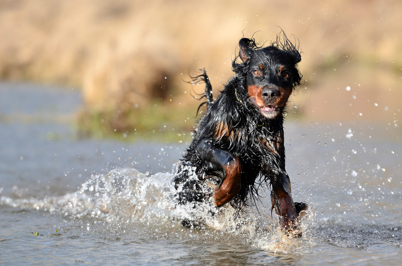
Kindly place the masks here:
<instances>
[{"instance_id":1,"label":"rippled grey-blue river water surrounding the dog, including the splashes","mask_svg":"<svg viewBox=\"0 0 402 266\"><path fill-rule=\"evenodd\" d=\"M402 264L398 125L286 123L293 199L310 205L293 239L267 188L236 219L176 206L185 145L78 139L81 105L76 89L0 84L0 264Z\"/></svg>"}]
</instances>

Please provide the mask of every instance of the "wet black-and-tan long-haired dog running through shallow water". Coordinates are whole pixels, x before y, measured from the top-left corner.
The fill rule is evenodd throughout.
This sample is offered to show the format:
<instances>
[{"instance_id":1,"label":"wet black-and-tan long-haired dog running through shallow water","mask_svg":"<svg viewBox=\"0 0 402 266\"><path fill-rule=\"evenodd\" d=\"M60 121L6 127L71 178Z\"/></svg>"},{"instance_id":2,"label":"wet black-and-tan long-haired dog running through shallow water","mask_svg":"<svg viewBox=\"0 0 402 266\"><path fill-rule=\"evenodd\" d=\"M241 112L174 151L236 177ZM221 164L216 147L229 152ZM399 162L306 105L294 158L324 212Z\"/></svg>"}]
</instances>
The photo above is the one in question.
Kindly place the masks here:
<instances>
[{"instance_id":1,"label":"wet black-and-tan long-haired dog running through shallow water","mask_svg":"<svg viewBox=\"0 0 402 266\"><path fill-rule=\"evenodd\" d=\"M178 203L212 197L216 207L230 203L240 209L249 198L255 202L258 186L270 184L281 228L293 230L307 205L293 203L291 196L283 120L287 100L301 82L301 56L283 32L267 47L248 38L239 47L232 62L236 75L215 102L205 71L193 80L206 84L207 111L174 180ZM197 179L191 178L194 172Z\"/></svg>"}]
</instances>

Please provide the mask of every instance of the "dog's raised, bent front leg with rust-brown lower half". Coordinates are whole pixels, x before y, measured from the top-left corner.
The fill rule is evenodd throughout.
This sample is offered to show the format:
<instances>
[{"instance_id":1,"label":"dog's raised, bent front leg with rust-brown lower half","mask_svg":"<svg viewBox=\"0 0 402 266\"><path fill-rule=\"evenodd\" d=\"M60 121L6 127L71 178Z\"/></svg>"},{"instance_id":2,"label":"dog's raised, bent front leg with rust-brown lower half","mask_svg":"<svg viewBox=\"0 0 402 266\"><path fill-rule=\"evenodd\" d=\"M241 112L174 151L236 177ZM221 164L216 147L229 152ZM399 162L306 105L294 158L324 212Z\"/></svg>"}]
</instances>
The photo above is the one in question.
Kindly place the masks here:
<instances>
[{"instance_id":1,"label":"dog's raised, bent front leg with rust-brown lower half","mask_svg":"<svg viewBox=\"0 0 402 266\"><path fill-rule=\"evenodd\" d=\"M241 188L242 164L240 159L229 151L217 149L207 140L201 141L196 148L204 165L205 175L221 178L218 188L214 189L213 201L222 207L231 201Z\"/></svg>"}]
</instances>

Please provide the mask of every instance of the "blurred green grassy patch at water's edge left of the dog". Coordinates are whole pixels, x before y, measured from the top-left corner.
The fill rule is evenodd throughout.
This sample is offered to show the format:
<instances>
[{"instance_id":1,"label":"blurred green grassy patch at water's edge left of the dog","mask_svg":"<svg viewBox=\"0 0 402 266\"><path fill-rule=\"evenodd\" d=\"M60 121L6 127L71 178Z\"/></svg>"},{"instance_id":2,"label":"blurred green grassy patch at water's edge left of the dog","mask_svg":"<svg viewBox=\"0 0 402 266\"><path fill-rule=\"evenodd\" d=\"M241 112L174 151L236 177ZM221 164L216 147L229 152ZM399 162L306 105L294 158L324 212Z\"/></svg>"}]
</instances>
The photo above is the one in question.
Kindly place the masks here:
<instances>
[{"instance_id":1,"label":"blurred green grassy patch at water's edge left of the dog","mask_svg":"<svg viewBox=\"0 0 402 266\"><path fill-rule=\"evenodd\" d=\"M124 111L87 109L80 113L78 136L123 141L186 142L192 138L195 110L192 106L180 107L153 102Z\"/></svg>"}]
</instances>

